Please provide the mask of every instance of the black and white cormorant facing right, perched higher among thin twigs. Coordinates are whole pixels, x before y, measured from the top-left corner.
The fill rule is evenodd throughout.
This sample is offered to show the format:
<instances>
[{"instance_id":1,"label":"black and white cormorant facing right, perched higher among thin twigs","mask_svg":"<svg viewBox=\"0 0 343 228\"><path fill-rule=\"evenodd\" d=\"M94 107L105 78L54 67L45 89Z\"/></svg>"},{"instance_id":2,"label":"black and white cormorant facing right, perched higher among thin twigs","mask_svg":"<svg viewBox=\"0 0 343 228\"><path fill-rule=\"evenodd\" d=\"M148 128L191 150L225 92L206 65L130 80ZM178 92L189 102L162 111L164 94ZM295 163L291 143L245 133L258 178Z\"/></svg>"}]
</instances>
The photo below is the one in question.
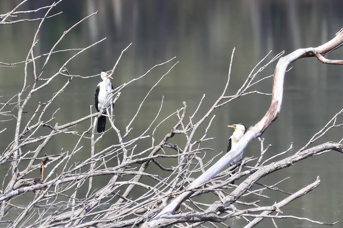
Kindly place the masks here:
<instances>
[{"instance_id":1,"label":"black and white cormorant facing right, perched higher among thin twigs","mask_svg":"<svg viewBox=\"0 0 343 228\"><path fill-rule=\"evenodd\" d=\"M101 110L101 107L103 106L105 102L105 97L107 95L107 98L106 98L107 103L105 104L104 109L103 109L103 113L106 114L106 108L108 108L111 104L111 100L110 100L110 97L112 95L111 91L113 91L113 85L109 79L110 78L113 79L113 78L109 76L106 70L101 72L100 77L103 81L100 82L96 86L96 89L95 89L95 94L94 94L95 108L98 112ZM100 116L98 119L98 124L96 128L97 132L98 133L104 132L105 125L106 125L106 116Z\"/></svg>"}]
</instances>

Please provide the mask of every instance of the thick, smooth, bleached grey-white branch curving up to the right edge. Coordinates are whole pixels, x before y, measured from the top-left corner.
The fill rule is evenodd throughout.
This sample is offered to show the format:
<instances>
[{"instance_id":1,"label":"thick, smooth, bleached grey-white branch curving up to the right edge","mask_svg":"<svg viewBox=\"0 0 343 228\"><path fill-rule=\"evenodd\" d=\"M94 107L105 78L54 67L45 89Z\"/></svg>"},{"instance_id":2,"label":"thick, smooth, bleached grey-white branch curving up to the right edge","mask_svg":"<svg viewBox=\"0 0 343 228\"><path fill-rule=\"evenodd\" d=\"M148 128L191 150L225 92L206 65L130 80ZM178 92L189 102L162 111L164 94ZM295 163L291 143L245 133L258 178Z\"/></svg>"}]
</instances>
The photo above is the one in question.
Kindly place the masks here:
<instances>
[{"instance_id":1,"label":"thick, smooth, bleached grey-white branch curving up to the right edge","mask_svg":"<svg viewBox=\"0 0 343 228\"><path fill-rule=\"evenodd\" d=\"M194 189L197 189L200 185L209 181L217 173L221 172L224 167L232 162L243 150L247 147L249 142L256 137L261 136L265 130L271 125L271 123L279 116L282 106L282 97L283 97L283 85L286 70L292 62L303 57L313 57L316 56L323 63L331 64L343 64L343 61L323 61L322 56L328 52L336 49L343 43L343 30L337 33L336 37L327 43L318 46L317 48L306 48L298 49L285 57L279 59L274 71L273 87L272 87L272 101L269 109L265 113L264 117L255 125L248 129L245 135L237 143L237 145L230 150L226 155L224 155L218 162L212 165L205 173L198 177L194 182L192 182L184 193L180 194L178 197L173 199L169 204L167 204L164 209L159 212L155 217L153 217L150 222L144 224L144 226L154 227L158 223L158 219L166 214L172 213L175 209L184 202L189 196L194 192Z\"/></svg>"}]
</instances>

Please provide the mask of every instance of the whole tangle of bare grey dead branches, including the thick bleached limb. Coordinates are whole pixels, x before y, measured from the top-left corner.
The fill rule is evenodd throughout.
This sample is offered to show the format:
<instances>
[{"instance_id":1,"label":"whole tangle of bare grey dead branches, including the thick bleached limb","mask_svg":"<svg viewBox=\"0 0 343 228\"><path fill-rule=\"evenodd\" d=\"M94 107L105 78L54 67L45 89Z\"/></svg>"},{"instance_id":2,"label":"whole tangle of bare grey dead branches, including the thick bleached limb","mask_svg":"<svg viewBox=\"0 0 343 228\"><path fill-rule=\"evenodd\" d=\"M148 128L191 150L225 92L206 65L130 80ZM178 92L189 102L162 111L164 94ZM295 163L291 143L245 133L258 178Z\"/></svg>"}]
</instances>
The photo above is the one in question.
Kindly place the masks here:
<instances>
[{"instance_id":1,"label":"whole tangle of bare grey dead branches, including the thick bleached limb","mask_svg":"<svg viewBox=\"0 0 343 228\"><path fill-rule=\"evenodd\" d=\"M314 182L308 186L299 186L299 191L287 195L282 201L276 202L270 206L259 206L259 197L262 195L259 190L268 188L278 190L274 186L263 186L257 191L249 191L252 186L256 186L258 180L266 175L275 171L288 167L298 161L308 157L319 155L329 150L342 152L341 142L327 142L318 146L310 147L318 138L323 134L330 131L330 129L341 126L336 123L336 118L341 115L339 111L333 118L323 126L323 128L315 134L309 142L299 149L294 155L285 159L278 160L278 156L283 155L281 152L270 159L264 159L264 154L269 146L263 144L263 138L259 138L263 132L268 130L270 124L277 118L280 113L283 96L284 76L288 66L303 57L317 57L319 61L325 64L342 64L340 60L329 60L324 58L327 53L339 48L343 43L343 32L339 31L336 36L317 48L298 49L291 54L281 57L284 53L279 53L274 56L270 61L266 61L268 53L265 58L253 68L250 75L247 76L246 81L233 95L227 94L227 88L230 81L230 71L227 76L227 83L223 85L222 94L212 104L211 107L206 107L208 112L199 117L197 111L200 106L203 106L202 100L204 97L199 98L199 106L196 110L188 110L187 104L184 102L174 113L170 113L166 119L171 116L177 116L178 121L175 125L170 126L170 131L165 133L161 142L155 140L155 130L164 122L156 122L156 118L160 115L160 111L156 113L156 117L152 118L150 124L146 125L146 130L135 138L130 138L132 131L131 125L136 120L140 112L140 107L143 106L145 98L142 98L142 103L137 107L137 113L133 114L130 122L126 123L125 131L118 130L114 121L114 110L109 109L108 126L112 134L117 135L118 144L109 145L102 151L96 151L95 148L99 139L103 134L95 134L95 124L101 112L90 113L80 117L80 119L72 120L72 122L57 123L54 121L53 116L46 117L46 111L50 108L50 104L55 102L56 97L63 93L64 89L73 83L74 77L94 77L94 76L78 76L72 75L68 71L68 63L71 59L77 58L78 54L87 51L99 42L90 44L83 49L70 49L70 50L56 50L56 45L62 40L66 39L65 35L79 23L87 20L88 17L96 16L93 13L80 22L76 23L61 34L60 39L54 46L51 47L49 53L36 55L35 44L37 35L40 32L43 23L49 23L49 18L59 16L58 14L51 15L50 11L56 4L62 4L61 1L53 5L48 5L39 8L36 11L45 11L44 18L36 19L21 19L16 20L17 15L30 14L34 11L19 11L20 6L25 4L28 0L23 1L11 12L0 12L0 26L11 26L14 23L30 23L29 21L37 20L40 24L37 28L35 36L32 37L32 46L28 50L27 56L19 63L6 63L5 59L1 59L1 67L9 67L14 65L24 65L25 70L21 75L23 86L20 91L13 91L8 100L1 98L2 105L0 106L0 114L6 120L10 119L9 116L13 115L15 121L15 134L12 142L5 142L7 148L2 151L0 157L0 165L8 167L8 172L2 175L2 190L0 194L0 223L4 227L132 227L138 225L141 227L167 227L175 225L176 227L195 227L203 223L211 223L216 226L218 224L230 225L232 218L241 216L246 219L246 227L253 227L258 224L262 219L276 219L287 218L296 216L280 215L282 207L289 202L296 200L298 197L305 195L319 185L320 179L314 178ZM6 42L6 41L2 41ZM127 48L129 48L128 45ZM96 46L95 46L96 48ZM126 49L127 49L126 48ZM125 50L126 50L125 49ZM114 64L111 74L115 71L117 64L125 52L122 51L118 61ZM61 51L76 51L70 59L60 67L60 69L49 78L42 78L46 65L50 61L50 56L56 52ZM232 58L234 57L234 50ZM44 66L42 68L36 67L36 60L44 59ZM276 65L274 75L259 78L263 69L274 61L279 62ZM175 64L161 76L167 77L168 72L174 67L177 67L175 58L171 58L164 63L159 63L151 69L174 61ZM267 63L265 63L267 62ZM28 66L33 66L33 72L28 72ZM230 69L232 59L230 62ZM149 70L150 71L150 70ZM129 83L134 83L140 80L149 71L144 73L125 84L118 86L114 90L114 103L120 99L120 93L125 92L126 86ZM34 83L28 85L28 77L34 77ZM97 76L98 77L98 76ZM251 91L251 86L260 83L262 80L273 77L272 94L265 94L259 91ZM160 80L161 80L160 79ZM35 111L25 113L30 103L30 97L44 87L49 87L50 83L56 80L64 80L65 84L60 90L52 97L46 99L44 102L36 104ZM158 86L158 80L155 85L151 85L151 89ZM43 82L43 83L42 83ZM151 90L150 90L151 91ZM146 96L150 91L146 91ZM270 108L267 110L265 116L256 125L250 127L244 137L240 140L238 145L229 153L225 153L218 162L213 164L213 159L209 162L204 161L205 156L211 156L204 151L210 151L211 148L206 147L206 140L211 140L215 136L209 136L207 131L211 128L211 123L214 118L213 110L226 105L234 99L241 96L253 93L260 93L272 96ZM25 94L25 95L24 95ZM3 95L3 94L0 94ZM7 97L6 97L7 98ZM163 100L161 102L161 107ZM161 110L161 109L160 109ZM23 115L30 115L28 121L22 121ZM196 118L194 118L196 117ZM78 123L89 121L92 124L86 131L78 132L74 130L74 126ZM195 121L198 119L199 121ZM48 121L46 121L48 120ZM200 126L206 126L206 130L202 132L202 137L196 138L195 133L199 133ZM39 135L37 131L40 128L49 128L51 131L47 135ZM108 127L109 128L109 127ZM107 129L108 129L107 128ZM147 132L153 130L151 135ZM0 129L0 134L6 134L7 129ZM105 132L105 134L106 134ZM62 151L59 154L49 154L45 151L45 146L53 141L56 135L70 134L75 138L75 145L72 151ZM185 144L171 144L170 138L180 134L186 138ZM89 136L90 135L90 136ZM150 148L142 148L140 142L142 139L150 138L152 146ZM261 143L261 153L255 158L246 158L242 164L236 164L228 167L229 164L241 151L243 151L248 143L258 138ZM79 163L72 163L71 158L80 150L81 139L87 139L89 153L85 155L84 160ZM4 142L2 142L4 143ZM36 145L34 151L29 151L28 145ZM61 146L62 148L62 146ZM84 150L85 148L83 148ZM289 148L290 150L291 148ZM168 153L164 151L168 150ZM288 150L287 150L288 151ZM322 155L324 156L324 155ZM177 166L164 167L158 160L164 159L173 164L178 161ZM113 161L116 161L115 163ZM109 165L110 163L110 165ZM21 169L25 164L25 169ZM19 166L21 165L21 166ZM132 168L137 165L138 169ZM159 167L160 171L168 172L169 176L161 178L159 175L148 173L147 167L154 165ZM238 166L237 166L238 165ZM46 172L44 172L45 168ZM62 172L56 173L57 169L63 168ZM234 175L232 171L236 170ZM25 178L30 173L39 173L37 178ZM195 173L202 173L198 178L194 178ZM44 175L40 176L40 173ZM156 172L158 173L158 172ZM110 175L111 178L107 185L94 186L93 178L103 175ZM121 177L130 176L130 180L122 181ZM42 179L43 177L43 179ZM239 178L244 179L240 185L230 184L233 180ZM280 180L281 181L281 180ZM153 184L151 184L153 183ZM237 182L236 182L237 183ZM275 183L276 184L276 183ZM140 187L145 189L144 193L137 196L132 192L135 188ZM78 194L79 190L87 189L85 195ZM119 192L118 189L121 189ZM122 190L124 189L124 190ZM34 194L28 194L32 193ZM72 194L70 194L72 192ZM25 193L25 195L24 195ZM206 204L196 201L194 196L203 194L215 194L218 198L217 201ZM244 196L255 194L255 202L243 202ZM14 205L11 202L13 198L32 197L31 202L23 206ZM242 199L241 199L242 198ZM246 210L238 210L235 204L243 204L247 206ZM10 212L16 211L17 217L15 219L8 219ZM257 214L259 213L259 214ZM273 215L271 215L273 213ZM13 214L13 213L12 213ZM298 218L304 219L304 218ZM305 218L312 223L324 224L315 220Z\"/></svg>"}]
</instances>

